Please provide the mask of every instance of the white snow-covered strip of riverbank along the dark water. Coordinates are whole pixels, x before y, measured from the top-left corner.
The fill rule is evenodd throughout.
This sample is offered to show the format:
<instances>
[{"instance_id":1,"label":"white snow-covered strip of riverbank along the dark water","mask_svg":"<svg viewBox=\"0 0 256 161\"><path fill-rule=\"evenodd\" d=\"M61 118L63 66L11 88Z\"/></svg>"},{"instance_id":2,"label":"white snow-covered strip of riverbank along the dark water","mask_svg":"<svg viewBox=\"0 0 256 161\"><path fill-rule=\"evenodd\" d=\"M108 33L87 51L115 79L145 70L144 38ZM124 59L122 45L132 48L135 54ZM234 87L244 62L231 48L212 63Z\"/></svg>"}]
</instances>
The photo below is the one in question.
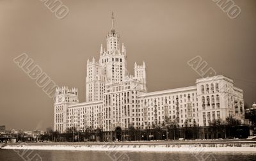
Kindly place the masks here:
<instances>
[{"instance_id":1,"label":"white snow-covered strip of riverbank along the dark water","mask_svg":"<svg viewBox=\"0 0 256 161\"><path fill-rule=\"evenodd\" d=\"M2 149L71 151L256 151L256 144L7 144Z\"/></svg>"}]
</instances>

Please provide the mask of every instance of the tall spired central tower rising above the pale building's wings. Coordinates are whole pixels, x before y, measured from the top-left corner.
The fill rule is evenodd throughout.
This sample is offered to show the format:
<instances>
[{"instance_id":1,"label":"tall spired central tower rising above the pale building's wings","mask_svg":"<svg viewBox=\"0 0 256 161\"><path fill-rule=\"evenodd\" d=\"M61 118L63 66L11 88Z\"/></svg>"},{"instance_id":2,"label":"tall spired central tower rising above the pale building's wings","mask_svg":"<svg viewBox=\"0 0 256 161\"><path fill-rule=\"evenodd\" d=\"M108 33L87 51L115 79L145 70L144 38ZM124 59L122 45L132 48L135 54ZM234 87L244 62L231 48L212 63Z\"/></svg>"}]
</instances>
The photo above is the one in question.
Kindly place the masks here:
<instances>
[{"instance_id":1,"label":"tall spired central tower rising above the pale building's wings","mask_svg":"<svg viewBox=\"0 0 256 161\"><path fill-rule=\"evenodd\" d=\"M100 45L100 59L87 61L86 102L102 100L105 86L122 84L127 72L126 51L124 43L120 50L120 36L115 31L114 13L111 14L111 29L106 36L106 49Z\"/></svg>"}]
</instances>

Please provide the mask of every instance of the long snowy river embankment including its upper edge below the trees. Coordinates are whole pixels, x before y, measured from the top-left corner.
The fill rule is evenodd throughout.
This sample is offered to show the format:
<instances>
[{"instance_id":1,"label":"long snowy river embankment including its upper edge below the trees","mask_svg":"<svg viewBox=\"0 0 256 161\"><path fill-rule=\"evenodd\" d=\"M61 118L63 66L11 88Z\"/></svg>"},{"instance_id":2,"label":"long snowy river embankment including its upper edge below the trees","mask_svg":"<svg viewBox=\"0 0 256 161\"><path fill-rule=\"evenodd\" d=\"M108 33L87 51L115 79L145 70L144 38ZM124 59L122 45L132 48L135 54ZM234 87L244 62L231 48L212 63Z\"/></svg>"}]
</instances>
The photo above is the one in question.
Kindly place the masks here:
<instances>
[{"instance_id":1,"label":"long snowy river embankment including its upper edge below the trees","mask_svg":"<svg viewBox=\"0 0 256 161\"><path fill-rule=\"evenodd\" d=\"M256 151L256 141L49 142L1 144L2 150Z\"/></svg>"}]
</instances>

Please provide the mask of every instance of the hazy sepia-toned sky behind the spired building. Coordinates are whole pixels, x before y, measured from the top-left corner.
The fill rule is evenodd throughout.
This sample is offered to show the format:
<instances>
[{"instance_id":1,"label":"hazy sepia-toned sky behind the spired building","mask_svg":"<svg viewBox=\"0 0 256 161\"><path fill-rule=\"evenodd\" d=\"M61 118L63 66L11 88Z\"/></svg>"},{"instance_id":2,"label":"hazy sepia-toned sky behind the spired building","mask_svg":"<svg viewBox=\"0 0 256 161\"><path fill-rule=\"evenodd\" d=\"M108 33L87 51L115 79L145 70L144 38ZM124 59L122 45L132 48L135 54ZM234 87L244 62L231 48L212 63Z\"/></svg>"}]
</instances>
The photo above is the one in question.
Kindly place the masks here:
<instances>
[{"instance_id":1,"label":"hazy sepia-toned sky behind the spired building","mask_svg":"<svg viewBox=\"0 0 256 161\"><path fill-rule=\"evenodd\" d=\"M211 0L61 2L63 19L40 0L0 0L0 125L45 130L54 122L53 100L13 62L22 53L85 101L87 59L99 59L101 43L106 48L112 11L129 72L146 63L148 91L195 86L201 76L187 62L200 56L243 89L244 102L256 102L255 0L234 1L236 19Z\"/></svg>"}]
</instances>

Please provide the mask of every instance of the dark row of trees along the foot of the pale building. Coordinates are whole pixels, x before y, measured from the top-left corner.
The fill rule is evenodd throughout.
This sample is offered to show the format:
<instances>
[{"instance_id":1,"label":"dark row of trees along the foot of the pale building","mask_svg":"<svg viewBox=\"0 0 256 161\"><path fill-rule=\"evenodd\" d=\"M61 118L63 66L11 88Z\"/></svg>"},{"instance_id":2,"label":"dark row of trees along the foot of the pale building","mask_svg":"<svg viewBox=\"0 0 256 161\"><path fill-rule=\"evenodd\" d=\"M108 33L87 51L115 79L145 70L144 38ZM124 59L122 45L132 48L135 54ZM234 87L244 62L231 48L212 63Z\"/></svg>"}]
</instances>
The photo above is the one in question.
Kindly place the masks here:
<instances>
[{"instance_id":1,"label":"dark row of trees along the foot of the pale building","mask_svg":"<svg viewBox=\"0 0 256 161\"><path fill-rule=\"evenodd\" d=\"M141 141L141 140L176 140L184 139L218 139L218 137L236 137L236 130L239 128L239 121L228 117L225 121L217 120L210 123L209 127L198 127L196 123L190 127L188 121L184 127L179 127L175 121L169 118L164 123L147 126L146 129L136 129L130 126L127 129L118 129L112 132L113 137L119 141ZM88 127L85 130L69 128L65 134L53 132L47 128L42 140L48 141L103 141L102 129L93 130Z\"/></svg>"}]
</instances>

